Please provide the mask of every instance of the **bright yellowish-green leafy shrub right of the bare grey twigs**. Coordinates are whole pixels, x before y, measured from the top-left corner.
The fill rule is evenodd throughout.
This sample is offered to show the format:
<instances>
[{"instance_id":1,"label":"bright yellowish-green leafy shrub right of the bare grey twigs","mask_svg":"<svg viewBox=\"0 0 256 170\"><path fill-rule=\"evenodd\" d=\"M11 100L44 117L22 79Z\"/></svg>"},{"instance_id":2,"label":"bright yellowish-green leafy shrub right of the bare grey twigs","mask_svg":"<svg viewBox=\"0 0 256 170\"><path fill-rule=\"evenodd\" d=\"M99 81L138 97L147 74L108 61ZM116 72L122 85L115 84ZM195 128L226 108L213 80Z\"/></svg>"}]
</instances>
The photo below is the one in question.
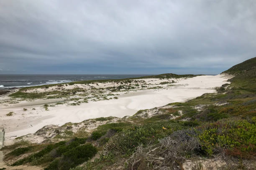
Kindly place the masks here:
<instances>
[{"instance_id":1,"label":"bright yellowish-green leafy shrub right of the bare grey twigs","mask_svg":"<svg viewBox=\"0 0 256 170\"><path fill-rule=\"evenodd\" d=\"M256 125L247 120L223 119L197 128L202 148L208 155L226 148L229 155L249 158L256 151Z\"/></svg>"}]
</instances>

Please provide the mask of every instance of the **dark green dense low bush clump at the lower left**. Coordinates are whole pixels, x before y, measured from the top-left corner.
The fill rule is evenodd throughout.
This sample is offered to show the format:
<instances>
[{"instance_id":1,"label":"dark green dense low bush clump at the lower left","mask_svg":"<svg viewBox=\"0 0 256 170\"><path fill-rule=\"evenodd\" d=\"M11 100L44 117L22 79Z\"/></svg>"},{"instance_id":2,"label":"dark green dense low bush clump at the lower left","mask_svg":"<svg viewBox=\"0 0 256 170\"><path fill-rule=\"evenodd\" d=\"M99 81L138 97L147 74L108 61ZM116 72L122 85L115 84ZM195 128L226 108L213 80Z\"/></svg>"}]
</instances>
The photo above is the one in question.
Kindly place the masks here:
<instances>
[{"instance_id":1,"label":"dark green dense low bush clump at the lower left","mask_svg":"<svg viewBox=\"0 0 256 170\"><path fill-rule=\"evenodd\" d=\"M86 138L74 138L67 142L61 141L49 144L46 148L34 153L26 158L16 161L12 166L31 163L32 165L48 164L46 170L69 170L79 163L91 158L97 149L91 144L85 144ZM13 151L13 155L27 152L29 148L18 148ZM66 165L67 164L67 165Z\"/></svg>"}]
</instances>

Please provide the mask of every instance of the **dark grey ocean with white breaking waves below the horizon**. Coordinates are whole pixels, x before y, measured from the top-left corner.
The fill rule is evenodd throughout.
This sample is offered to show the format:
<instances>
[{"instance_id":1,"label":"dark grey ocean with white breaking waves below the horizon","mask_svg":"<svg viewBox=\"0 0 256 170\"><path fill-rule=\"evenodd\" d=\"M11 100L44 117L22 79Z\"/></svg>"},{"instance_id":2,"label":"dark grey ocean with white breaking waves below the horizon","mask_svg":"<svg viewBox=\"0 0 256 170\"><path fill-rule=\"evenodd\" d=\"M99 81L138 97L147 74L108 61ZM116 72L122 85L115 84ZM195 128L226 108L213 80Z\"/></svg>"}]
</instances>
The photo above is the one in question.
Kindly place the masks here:
<instances>
[{"instance_id":1,"label":"dark grey ocean with white breaking waves below the horizon","mask_svg":"<svg viewBox=\"0 0 256 170\"><path fill-rule=\"evenodd\" d=\"M81 80L104 80L145 75L0 75L0 88L29 87Z\"/></svg>"}]
</instances>

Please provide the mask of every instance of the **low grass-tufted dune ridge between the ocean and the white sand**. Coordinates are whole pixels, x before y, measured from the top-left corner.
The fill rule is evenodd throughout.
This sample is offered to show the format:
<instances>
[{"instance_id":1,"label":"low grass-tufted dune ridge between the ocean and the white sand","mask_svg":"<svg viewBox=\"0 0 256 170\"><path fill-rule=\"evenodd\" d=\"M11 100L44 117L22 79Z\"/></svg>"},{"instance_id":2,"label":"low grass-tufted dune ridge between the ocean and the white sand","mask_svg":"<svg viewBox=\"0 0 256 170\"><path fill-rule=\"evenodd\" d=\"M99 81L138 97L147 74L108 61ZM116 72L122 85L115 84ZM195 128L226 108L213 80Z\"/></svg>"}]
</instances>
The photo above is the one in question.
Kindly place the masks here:
<instances>
[{"instance_id":1,"label":"low grass-tufted dune ridge between the ocean and the white sand","mask_svg":"<svg viewBox=\"0 0 256 170\"><path fill-rule=\"evenodd\" d=\"M176 74L161 74L161 75L151 75L151 76L143 76L143 77L136 77L136 78L125 78L125 79L112 79L112 80L84 80L84 81L77 81L77 82L69 82L69 83L62 83L62 84L51 84L51 85L40 85L40 86L31 86L31 87L23 87L18 90L18 92L14 92L10 94L10 97L15 98L21 98L21 99L38 99L38 98L47 98L47 99L53 99L53 98L67 98L70 95L80 95L80 96L86 96L88 95L88 90L85 90L83 88L75 87L72 89L66 89L64 90L64 87L70 86L70 85L88 85L90 86L90 92L95 91L95 93L99 94L102 92L106 92L107 90L110 90L110 92L117 92L120 90L134 90L140 88L146 88L147 84L145 84L145 81L143 79L147 78L157 78L157 79L177 79L177 78L189 78L189 77L195 77L197 75L176 75ZM139 79L139 80L138 80ZM174 83L175 81L172 80L168 83ZM105 87L105 88L95 88L93 85L97 86L98 83L116 83L117 86L112 87ZM164 85L166 82L161 82L160 85ZM46 92L28 92L28 90L34 90L34 89L44 89L48 90L50 87L55 87L54 90L46 91ZM157 89L162 88L160 86L157 87L151 87L148 89ZM62 90L61 90L62 89ZM102 91L103 90L103 91ZM78 94L79 93L79 94ZM109 92L108 94L109 95ZM106 99L104 99L106 100Z\"/></svg>"}]
</instances>

